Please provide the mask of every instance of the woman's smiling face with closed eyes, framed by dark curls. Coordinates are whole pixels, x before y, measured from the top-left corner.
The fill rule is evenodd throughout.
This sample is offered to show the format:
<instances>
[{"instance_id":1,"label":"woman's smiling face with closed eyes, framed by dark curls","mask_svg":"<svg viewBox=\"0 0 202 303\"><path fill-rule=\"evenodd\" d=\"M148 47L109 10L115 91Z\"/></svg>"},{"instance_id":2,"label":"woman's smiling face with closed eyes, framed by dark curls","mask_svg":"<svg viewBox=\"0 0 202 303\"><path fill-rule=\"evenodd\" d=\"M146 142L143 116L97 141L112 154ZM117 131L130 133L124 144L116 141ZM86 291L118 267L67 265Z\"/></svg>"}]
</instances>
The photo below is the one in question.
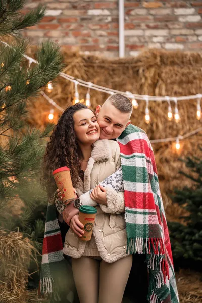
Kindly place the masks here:
<instances>
[{"instance_id":1,"label":"woman's smiling face with closed eyes, framed by dark curls","mask_svg":"<svg viewBox=\"0 0 202 303\"><path fill-rule=\"evenodd\" d=\"M78 142L93 144L99 139L100 127L94 113L89 109L77 111L73 117L74 131Z\"/></svg>"}]
</instances>

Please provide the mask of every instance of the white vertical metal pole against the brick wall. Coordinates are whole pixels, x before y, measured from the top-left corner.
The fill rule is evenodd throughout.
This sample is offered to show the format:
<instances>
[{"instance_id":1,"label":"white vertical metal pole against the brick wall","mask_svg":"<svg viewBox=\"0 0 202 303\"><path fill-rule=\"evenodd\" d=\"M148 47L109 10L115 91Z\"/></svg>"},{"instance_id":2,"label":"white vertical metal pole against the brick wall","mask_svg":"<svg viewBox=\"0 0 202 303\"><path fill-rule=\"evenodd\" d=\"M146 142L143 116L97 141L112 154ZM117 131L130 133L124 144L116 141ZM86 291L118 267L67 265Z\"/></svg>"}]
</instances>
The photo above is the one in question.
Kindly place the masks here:
<instances>
[{"instance_id":1,"label":"white vertical metal pole against the brick wall","mask_svg":"<svg viewBox=\"0 0 202 303\"><path fill-rule=\"evenodd\" d=\"M119 57L125 57L124 0L119 0Z\"/></svg>"}]
</instances>

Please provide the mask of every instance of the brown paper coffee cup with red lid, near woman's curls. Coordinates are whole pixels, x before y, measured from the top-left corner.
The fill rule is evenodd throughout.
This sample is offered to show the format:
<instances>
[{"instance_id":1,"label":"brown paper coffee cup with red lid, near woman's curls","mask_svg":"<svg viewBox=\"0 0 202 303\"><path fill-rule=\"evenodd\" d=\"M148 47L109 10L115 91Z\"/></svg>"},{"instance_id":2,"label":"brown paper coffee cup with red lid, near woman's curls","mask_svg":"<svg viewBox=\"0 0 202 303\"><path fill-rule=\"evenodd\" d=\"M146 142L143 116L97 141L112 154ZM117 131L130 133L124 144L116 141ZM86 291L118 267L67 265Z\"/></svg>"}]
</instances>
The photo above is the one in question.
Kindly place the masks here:
<instances>
[{"instance_id":1,"label":"brown paper coffee cup with red lid, near woman's curls","mask_svg":"<svg viewBox=\"0 0 202 303\"><path fill-rule=\"evenodd\" d=\"M67 166L57 168L53 171L53 176L56 185L62 194L63 203L68 203L74 200L74 190L72 186L70 169Z\"/></svg>"}]
</instances>

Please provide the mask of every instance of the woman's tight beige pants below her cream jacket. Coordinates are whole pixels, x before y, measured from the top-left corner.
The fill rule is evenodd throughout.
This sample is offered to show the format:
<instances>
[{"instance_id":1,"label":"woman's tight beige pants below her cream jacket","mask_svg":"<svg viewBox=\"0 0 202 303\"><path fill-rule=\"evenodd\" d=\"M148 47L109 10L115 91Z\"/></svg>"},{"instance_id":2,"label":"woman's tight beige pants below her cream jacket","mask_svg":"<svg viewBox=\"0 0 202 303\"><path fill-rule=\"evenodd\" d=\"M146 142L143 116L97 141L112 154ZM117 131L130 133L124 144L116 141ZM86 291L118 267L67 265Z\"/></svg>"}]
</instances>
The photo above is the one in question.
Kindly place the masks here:
<instances>
[{"instance_id":1,"label":"woman's tight beige pants below her cream jacket","mask_svg":"<svg viewBox=\"0 0 202 303\"><path fill-rule=\"evenodd\" d=\"M132 255L107 263L98 258L72 258L80 303L121 303L132 266Z\"/></svg>"}]
</instances>

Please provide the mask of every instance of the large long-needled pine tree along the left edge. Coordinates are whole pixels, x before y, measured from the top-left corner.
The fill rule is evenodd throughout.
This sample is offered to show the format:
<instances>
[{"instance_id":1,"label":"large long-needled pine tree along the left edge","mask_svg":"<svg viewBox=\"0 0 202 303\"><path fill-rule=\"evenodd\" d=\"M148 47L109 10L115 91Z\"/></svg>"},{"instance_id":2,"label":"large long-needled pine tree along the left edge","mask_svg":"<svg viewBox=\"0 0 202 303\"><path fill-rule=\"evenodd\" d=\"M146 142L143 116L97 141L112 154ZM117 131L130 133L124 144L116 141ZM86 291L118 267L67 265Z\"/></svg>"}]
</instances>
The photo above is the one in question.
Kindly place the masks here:
<instances>
[{"instance_id":1,"label":"large long-needled pine tree along the left edge","mask_svg":"<svg viewBox=\"0 0 202 303\"><path fill-rule=\"evenodd\" d=\"M43 130L26 126L26 104L34 102L40 88L58 76L62 56L49 41L36 53L38 64L29 66L23 57L29 41L20 36L20 30L39 22L45 8L22 15L24 3L0 2L0 229L21 231L40 250L47 197L39 177L52 126Z\"/></svg>"}]
</instances>

